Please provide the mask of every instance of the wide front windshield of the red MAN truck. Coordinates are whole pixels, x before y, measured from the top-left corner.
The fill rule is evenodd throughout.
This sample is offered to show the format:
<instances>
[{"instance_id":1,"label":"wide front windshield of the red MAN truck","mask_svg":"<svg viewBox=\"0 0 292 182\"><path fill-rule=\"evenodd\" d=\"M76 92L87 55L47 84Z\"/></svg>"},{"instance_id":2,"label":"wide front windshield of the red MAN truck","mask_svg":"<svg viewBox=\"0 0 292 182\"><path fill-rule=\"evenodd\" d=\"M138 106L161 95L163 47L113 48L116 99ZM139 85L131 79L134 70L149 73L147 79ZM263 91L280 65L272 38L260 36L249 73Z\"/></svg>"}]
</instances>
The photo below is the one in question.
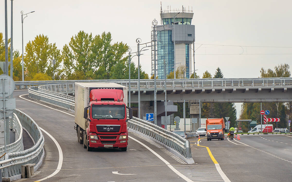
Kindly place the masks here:
<instances>
[{"instance_id":1,"label":"wide front windshield of the red MAN truck","mask_svg":"<svg viewBox=\"0 0 292 182\"><path fill-rule=\"evenodd\" d=\"M91 109L93 119L124 119L123 105L93 105Z\"/></svg>"}]
</instances>

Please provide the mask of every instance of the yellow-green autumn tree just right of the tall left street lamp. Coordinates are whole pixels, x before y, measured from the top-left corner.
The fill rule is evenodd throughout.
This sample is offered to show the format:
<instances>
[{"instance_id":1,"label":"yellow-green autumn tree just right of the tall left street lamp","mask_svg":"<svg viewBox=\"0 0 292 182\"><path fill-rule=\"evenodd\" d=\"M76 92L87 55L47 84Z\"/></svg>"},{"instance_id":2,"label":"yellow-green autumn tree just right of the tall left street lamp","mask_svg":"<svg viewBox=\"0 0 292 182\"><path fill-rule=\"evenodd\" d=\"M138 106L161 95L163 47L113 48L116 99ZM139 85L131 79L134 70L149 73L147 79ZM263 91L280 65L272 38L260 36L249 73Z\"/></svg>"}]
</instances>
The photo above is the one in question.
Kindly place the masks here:
<instances>
[{"instance_id":1,"label":"yellow-green autumn tree just right of the tall left street lamp","mask_svg":"<svg viewBox=\"0 0 292 182\"><path fill-rule=\"evenodd\" d=\"M53 59L56 60L55 73L60 70L60 50L57 49L56 43L49 43L48 36L43 34L36 36L34 40L27 43L25 50L28 79L32 79L36 73L53 77Z\"/></svg>"}]
</instances>

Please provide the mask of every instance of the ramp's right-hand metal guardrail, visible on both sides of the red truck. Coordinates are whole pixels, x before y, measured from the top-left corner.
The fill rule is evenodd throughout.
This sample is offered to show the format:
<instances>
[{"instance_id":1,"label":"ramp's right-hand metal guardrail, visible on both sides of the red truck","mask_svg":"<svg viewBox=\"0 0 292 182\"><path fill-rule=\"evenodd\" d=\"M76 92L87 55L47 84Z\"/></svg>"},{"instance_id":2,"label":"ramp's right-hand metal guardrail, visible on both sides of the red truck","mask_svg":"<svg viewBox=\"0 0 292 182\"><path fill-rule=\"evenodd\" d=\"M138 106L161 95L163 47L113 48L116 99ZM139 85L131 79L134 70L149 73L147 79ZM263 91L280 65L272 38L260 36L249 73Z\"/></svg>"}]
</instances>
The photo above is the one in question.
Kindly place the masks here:
<instances>
[{"instance_id":1,"label":"ramp's right-hand metal guardrail, visible on both sides of the red truck","mask_svg":"<svg viewBox=\"0 0 292 182\"><path fill-rule=\"evenodd\" d=\"M49 90L44 91L47 88ZM53 88L53 89L52 89ZM51 90L60 91L64 89L61 85L48 85L48 86L33 86L30 87L29 97L42 100L44 102L57 105L63 108L72 109L75 107L75 99L73 100L72 96L65 97L67 95L62 93L56 93ZM67 87L72 88L72 87ZM75 88L75 87L74 87ZM72 98L72 99L70 99ZM63 99L63 100L62 100ZM171 131L168 131L164 128L161 128L153 123L147 122L145 120L135 118L129 120L129 128L142 132L157 141L163 143L166 146L173 148L178 151L181 155L186 158L192 158L190 142L187 139L184 139L180 135L177 135Z\"/></svg>"}]
</instances>

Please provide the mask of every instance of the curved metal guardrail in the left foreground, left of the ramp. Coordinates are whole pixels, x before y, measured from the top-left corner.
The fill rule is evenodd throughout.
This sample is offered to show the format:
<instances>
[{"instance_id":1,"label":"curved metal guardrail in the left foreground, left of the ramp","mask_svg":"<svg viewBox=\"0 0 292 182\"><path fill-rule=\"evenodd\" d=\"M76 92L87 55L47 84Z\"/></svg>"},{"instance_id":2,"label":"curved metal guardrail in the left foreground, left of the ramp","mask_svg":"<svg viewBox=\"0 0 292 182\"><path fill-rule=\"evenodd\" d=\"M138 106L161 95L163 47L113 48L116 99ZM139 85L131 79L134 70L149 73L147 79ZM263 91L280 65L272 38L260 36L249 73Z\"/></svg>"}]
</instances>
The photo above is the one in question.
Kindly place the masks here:
<instances>
[{"instance_id":1,"label":"curved metal guardrail in the left foreground, left of the ramp","mask_svg":"<svg viewBox=\"0 0 292 182\"><path fill-rule=\"evenodd\" d=\"M42 164L44 158L44 136L39 126L34 120L24 112L14 109L22 127L33 139L34 145L23 151L10 152L5 155L5 159L0 161L0 169L4 169L3 177L21 178L21 165L35 163L34 171Z\"/></svg>"}]
</instances>

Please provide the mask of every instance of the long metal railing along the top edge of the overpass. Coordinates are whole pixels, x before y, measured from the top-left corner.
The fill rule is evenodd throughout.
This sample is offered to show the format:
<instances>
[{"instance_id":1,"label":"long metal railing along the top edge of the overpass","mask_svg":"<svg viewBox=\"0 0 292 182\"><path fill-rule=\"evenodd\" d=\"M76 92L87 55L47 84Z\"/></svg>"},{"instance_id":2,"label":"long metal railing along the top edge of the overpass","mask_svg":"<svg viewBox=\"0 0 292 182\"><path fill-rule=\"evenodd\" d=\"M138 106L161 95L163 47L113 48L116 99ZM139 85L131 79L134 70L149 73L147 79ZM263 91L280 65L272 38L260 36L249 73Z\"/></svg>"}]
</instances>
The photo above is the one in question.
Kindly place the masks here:
<instances>
[{"instance_id":1,"label":"long metal railing along the top edge of the overpass","mask_svg":"<svg viewBox=\"0 0 292 182\"><path fill-rule=\"evenodd\" d=\"M123 80L49 80L49 81L16 81L15 86L17 89L24 89L28 86L38 85L56 85L56 84L72 84L75 82L114 82L123 86L129 86L127 79ZM164 79L157 79L157 89L163 90L165 88ZM292 78L204 78L204 79L167 79L167 88L269 88L269 87L287 87L292 86ZM140 79L140 89L154 88L154 80ZM138 89L138 79L131 79L131 89Z\"/></svg>"}]
</instances>

